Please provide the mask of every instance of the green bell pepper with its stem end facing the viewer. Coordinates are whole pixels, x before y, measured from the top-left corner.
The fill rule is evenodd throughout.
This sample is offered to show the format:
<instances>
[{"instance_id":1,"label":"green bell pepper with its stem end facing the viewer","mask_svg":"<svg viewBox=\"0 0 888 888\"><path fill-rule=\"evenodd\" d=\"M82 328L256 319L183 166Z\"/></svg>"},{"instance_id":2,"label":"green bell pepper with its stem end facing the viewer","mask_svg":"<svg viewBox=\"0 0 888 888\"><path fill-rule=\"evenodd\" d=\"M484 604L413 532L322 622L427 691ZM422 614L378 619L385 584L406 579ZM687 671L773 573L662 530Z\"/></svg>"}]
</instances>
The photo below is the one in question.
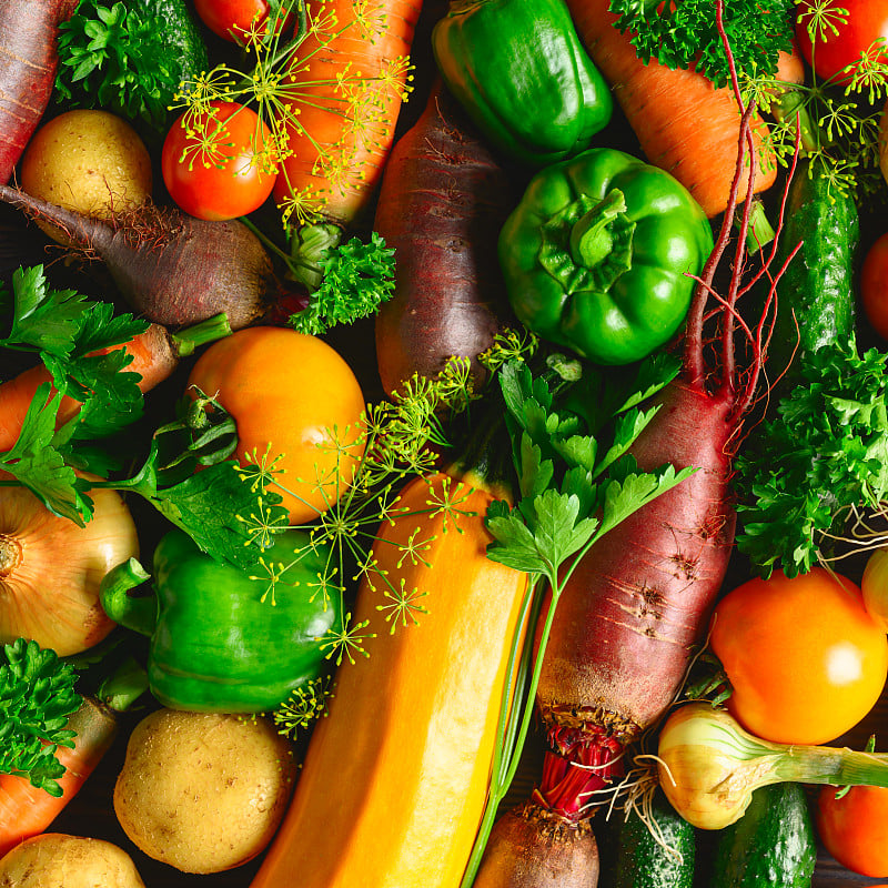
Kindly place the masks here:
<instances>
[{"instance_id":1,"label":"green bell pepper with its stem end facing the viewer","mask_svg":"<svg viewBox=\"0 0 888 888\"><path fill-rule=\"evenodd\" d=\"M669 173L606 148L541 170L500 233L517 317L598 364L629 364L680 327L713 250Z\"/></svg>"}]
</instances>

